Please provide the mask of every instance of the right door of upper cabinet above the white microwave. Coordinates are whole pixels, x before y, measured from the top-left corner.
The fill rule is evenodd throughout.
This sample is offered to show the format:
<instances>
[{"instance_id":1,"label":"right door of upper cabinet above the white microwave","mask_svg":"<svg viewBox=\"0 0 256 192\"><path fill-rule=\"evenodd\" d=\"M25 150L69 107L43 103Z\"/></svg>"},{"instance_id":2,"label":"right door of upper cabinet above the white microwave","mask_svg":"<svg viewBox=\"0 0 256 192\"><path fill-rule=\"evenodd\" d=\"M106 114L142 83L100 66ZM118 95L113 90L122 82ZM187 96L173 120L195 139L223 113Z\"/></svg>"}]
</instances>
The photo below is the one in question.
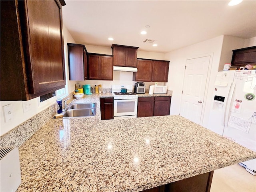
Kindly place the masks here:
<instances>
[{"instance_id":1,"label":"right door of upper cabinet above the white microwave","mask_svg":"<svg viewBox=\"0 0 256 192\"><path fill-rule=\"evenodd\" d=\"M153 62L153 82L167 82L169 72L169 62L168 61L154 61Z\"/></svg>"}]
</instances>

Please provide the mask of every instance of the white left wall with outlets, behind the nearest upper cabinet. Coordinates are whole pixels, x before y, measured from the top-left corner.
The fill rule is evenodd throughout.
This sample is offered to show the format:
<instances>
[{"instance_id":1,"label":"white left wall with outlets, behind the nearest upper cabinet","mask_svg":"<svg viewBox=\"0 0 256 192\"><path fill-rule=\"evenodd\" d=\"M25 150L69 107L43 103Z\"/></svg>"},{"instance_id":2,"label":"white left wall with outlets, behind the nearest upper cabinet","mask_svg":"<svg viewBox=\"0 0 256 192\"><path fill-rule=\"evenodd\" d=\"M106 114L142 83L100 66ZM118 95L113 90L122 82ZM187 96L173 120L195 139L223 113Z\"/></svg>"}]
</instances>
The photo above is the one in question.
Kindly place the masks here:
<instances>
[{"instance_id":1,"label":"white left wall with outlets, behind the nearest upper cabinet","mask_svg":"<svg viewBox=\"0 0 256 192\"><path fill-rule=\"evenodd\" d=\"M74 39L68 32L65 26L63 26L63 32L64 32L64 51L65 51L65 68L68 70L68 57L67 57L67 42L75 43ZM66 72L66 79L68 76L68 72ZM70 93L70 85L68 85L68 93ZM0 102L0 120L1 120L1 127L0 127L0 135L2 136L6 132L12 130L16 126L22 124L26 120L30 119L32 116L38 114L42 110L48 108L52 104L56 102L56 97L53 97L49 100L46 100L45 102L40 103L38 101L38 98L34 98L29 100L29 103L32 106L32 109L27 111L26 113L23 112L22 108L22 101L1 101ZM12 112L13 112L13 118L10 122L4 122L4 115L3 115L3 108L2 106L11 104L12 106Z\"/></svg>"}]
</instances>

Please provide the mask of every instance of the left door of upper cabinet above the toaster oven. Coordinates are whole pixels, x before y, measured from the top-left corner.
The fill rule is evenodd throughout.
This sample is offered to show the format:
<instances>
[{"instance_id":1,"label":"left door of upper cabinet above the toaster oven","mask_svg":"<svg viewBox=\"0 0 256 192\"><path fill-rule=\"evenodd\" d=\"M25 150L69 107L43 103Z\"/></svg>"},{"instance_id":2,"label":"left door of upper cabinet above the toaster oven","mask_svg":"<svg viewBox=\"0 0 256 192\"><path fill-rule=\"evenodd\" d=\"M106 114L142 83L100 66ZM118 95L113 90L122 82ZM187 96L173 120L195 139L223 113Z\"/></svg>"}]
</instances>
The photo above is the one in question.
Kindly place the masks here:
<instances>
[{"instance_id":1,"label":"left door of upper cabinet above the toaster oven","mask_svg":"<svg viewBox=\"0 0 256 192\"><path fill-rule=\"evenodd\" d=\"M138 71L133 73L134 81L151 81L152 79L152 69L153 61L152 60L137 60Z\"/></svg>"}]
</instances>

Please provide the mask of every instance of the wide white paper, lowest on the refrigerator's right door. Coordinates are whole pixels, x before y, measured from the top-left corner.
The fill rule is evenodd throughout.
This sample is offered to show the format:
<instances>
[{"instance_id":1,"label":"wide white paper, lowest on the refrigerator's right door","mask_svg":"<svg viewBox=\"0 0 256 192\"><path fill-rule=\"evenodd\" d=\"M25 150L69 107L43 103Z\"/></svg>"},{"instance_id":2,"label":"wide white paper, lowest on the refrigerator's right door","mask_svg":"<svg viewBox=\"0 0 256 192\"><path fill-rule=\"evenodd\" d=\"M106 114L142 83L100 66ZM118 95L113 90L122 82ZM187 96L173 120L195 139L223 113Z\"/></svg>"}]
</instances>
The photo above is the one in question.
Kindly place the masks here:
<instances>
[{"instance_id":1,"label":"wide white paper, lowest on the refrigerator's right door","mask_svg":"<svg viewBox=\"0 0 256 192\"><path fill-rule=\"evenodd\" d=\"M250 130L251 122L236 116L230 116L228 126L248 133Z\"/></svg>"}]
</instances>

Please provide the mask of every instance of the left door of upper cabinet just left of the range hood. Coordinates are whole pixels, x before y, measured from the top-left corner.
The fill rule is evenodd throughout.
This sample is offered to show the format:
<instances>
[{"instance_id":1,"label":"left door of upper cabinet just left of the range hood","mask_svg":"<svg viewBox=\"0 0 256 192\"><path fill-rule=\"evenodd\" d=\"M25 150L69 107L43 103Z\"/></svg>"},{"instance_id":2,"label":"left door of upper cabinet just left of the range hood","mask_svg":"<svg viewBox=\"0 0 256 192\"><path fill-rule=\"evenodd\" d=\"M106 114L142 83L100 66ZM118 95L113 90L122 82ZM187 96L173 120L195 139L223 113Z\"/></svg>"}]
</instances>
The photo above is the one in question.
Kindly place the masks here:
<instances>
[{"instance_id":1,"label":"left door of upper cabinet just left of the range hood","mask_svg":"<svg viewBox=\"0 0 256 192\"><path fill-rule=\"evenodd\" d=\"M101 65L100 65L100 56L99 55L89 55L89 79L91 80L100 80Z\"/></svg>"}]
</instances>

